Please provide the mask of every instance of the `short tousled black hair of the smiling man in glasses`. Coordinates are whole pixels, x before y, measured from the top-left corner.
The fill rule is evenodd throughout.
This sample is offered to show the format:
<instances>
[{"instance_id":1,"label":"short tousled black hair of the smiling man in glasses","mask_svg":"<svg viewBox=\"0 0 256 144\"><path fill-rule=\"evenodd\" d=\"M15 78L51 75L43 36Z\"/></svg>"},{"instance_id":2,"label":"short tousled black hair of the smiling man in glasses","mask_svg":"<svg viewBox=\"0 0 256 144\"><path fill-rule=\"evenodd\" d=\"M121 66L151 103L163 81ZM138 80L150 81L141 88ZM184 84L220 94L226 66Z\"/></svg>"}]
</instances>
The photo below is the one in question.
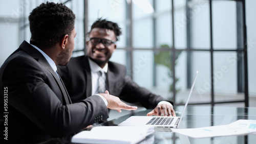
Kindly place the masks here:
<instances>
[{"instance_id":1,"label":"short tousled black hair of the smiling man in glasses","mask_svg":"<svg viewBox=\"0 0 256 144\"><path fill-rule=\"evenodd\" d=\"M114 31L116 35L116 41L119 40L119 36L122 34L121 28L118 26L118 24L107 19L98 18L96 21L94 21L91 27L91 31L94 28L109 29ZM88 34L90 34L91 31Z\"/></svg>"}]
</instances>

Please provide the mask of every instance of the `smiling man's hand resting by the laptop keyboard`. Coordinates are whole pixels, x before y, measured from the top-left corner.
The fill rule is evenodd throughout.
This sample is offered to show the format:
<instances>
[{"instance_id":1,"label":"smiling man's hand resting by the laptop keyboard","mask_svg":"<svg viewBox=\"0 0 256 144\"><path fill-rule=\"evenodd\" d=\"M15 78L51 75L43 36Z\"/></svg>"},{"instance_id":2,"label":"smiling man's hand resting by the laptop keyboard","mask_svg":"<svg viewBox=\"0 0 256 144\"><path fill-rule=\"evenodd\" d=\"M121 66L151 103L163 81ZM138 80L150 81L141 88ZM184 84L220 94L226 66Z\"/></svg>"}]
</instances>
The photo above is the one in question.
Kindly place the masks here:
<instances>
[{"instance_id":1,"label":"smiling man's hand resting by the laptop keyboard","mask_svg":"<svg viewBox=\"0 0 256 144\"><path fill-rule=\"evenodd\" d=\"M167 104L157 105L155 109L146 114L147 116L158 115L158 116L176 116L173 106Z\"/></svg>"}]
</instances>

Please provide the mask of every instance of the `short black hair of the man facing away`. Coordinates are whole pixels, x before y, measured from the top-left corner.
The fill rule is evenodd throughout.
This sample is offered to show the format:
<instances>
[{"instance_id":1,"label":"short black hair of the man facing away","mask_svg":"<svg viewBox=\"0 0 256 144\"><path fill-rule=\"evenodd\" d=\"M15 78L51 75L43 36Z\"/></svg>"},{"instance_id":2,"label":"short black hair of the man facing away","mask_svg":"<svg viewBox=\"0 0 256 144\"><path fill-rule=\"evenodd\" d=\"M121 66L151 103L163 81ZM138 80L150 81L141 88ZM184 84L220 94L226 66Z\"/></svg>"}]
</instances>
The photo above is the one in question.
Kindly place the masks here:
<instances>
[{"instance_id":1,"label":"short black hair of the man facing away","mask_svg":"<svg viewBox=\"0 0 256 144\"><path fill-rule=\"evenodd\" d=\"M29 15L30 42L40 48L52 47L75 28L75 14L63 4L47 2L32 10Z\"/></svg>"}]
</instances>

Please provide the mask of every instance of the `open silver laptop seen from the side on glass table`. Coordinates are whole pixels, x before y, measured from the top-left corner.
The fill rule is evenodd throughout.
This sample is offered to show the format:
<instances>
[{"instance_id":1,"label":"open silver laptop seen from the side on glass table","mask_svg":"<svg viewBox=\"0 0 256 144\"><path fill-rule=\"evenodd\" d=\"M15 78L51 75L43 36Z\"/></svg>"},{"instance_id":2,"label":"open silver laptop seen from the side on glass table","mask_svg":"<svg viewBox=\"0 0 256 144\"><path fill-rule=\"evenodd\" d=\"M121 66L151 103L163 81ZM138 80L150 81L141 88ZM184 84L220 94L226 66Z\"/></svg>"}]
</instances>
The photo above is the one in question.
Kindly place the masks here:
<instances>
[{"instance_id":1,"label":"open silver laptop seen from the side on glass table","mask_svg":"<svg viewBox=\"0 0 256 144\"><path fill-rule=\"evenodd\" d=\"M154 126L155 128L178 128L181 123L181 119L184 115L184 112L186 110L191 93L194 89L197 75L198 75L198 71L196 73L194 82L191 86L191 89L188 94L187 101L185 103L181 116L131 116L127 118L125 121L123 121L122 123L120 123L118 126L149 125L149 126Z\"/></svg>"}]
</instances>

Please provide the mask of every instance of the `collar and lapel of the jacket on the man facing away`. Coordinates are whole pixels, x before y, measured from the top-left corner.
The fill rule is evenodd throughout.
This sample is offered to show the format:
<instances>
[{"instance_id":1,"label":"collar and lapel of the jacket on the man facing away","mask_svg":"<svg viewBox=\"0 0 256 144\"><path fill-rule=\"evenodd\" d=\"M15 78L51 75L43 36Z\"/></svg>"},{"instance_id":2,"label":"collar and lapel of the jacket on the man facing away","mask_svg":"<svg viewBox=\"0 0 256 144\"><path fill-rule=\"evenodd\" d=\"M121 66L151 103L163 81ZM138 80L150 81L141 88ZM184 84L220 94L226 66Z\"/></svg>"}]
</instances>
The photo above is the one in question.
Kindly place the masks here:
<instances>
[{"instance_id":1,"label":"collar and lapel of the jacket on the man facing away","mask_svg":"<svg viewBox=\"0 0 256 144\"><path fill-rule=\"evenodd\" d=\"M46 58L26 41L24 41L22 44L20 44L19 47L20 47L20 49L23 49L24 51L26 51L31 57L36 59L38 61L38 63L40 63L42 66L44 66L52 74L52 76L54 77L55 81L57 82L57 84L61 90L61 93L65 100L65 103L70 104L71 100L69 98L69 94L68 94L65 86L63 85L63 83L61 82L61 80L59 79L59 77L57 76L55 71L53 71L51 65L48 63Z\"/></svg>"}]
</instances>

